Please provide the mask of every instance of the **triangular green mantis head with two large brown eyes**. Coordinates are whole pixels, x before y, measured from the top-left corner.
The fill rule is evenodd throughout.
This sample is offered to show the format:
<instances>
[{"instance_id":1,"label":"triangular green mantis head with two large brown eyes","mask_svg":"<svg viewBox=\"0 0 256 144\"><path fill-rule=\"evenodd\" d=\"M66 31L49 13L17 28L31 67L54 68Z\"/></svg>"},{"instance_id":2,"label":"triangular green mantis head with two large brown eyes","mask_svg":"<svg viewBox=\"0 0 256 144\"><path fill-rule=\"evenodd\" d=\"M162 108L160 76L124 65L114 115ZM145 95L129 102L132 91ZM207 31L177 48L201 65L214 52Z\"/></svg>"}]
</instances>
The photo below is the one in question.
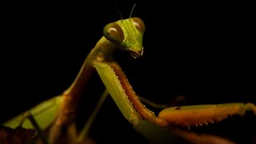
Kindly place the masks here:
<instances>
[{"instance_id":1,"label":"triangular green mantis head with two large brown eyes","mask_svg":"<svg viewBox=\"0 0 256 144\"><path fill-rule=\"evenodd\" d=\"M107 24L103 35L118 48L127 50L134 58L143 54L143 34L145 25L141 18L128 18Z\"/></svg>"}]
</instances>

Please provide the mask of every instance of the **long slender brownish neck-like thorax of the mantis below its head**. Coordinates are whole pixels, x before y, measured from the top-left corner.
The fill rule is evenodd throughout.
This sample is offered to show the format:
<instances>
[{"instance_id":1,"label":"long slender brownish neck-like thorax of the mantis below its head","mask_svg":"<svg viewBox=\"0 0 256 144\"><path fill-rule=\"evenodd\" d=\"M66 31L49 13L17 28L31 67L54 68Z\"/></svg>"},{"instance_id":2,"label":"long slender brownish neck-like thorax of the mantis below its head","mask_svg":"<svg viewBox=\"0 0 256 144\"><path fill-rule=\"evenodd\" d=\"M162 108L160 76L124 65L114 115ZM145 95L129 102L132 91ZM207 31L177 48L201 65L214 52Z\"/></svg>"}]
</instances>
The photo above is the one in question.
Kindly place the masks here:
<instances>
[{"instance_id":1,"label":"long slender brownish neck-like thorax of the mantis below its head","mask_svg":"<svg viewBox=\"0 0 256 144\"><path fill-rule=\"evenodd\" d=\"M82 91L89 84L90 77L95 71L92 61L108 61L112 58L114 48L115 45L113 42L102 37L94 46L94 49L90 51L90 54L87 55L78 76L75 78L71 86L63 93L64 98L62 107L56 121L59 126L66 125L74 120L78 108L78 102L82 98Z\"/></svg>"}]
</instances>

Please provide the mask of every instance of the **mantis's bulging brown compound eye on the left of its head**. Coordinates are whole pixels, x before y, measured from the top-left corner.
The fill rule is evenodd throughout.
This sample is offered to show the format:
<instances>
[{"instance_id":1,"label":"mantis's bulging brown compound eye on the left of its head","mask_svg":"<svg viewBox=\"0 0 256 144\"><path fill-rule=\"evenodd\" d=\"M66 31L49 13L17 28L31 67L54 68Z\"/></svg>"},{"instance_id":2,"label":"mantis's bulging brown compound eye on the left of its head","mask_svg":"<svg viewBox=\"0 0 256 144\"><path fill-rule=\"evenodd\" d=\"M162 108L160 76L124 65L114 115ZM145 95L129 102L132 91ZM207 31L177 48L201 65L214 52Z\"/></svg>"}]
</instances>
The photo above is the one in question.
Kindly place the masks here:
<instances>
[{"instance_id":1,"label":"mantis's bulging brown compound eye on the left of its head","mask_svg":"<svg viewBox=\"0 0 256 144\"><path fill-rule=\"evenodd\" d=\"M117 23L109 23L103 29L103 35L112 42L122 42L124 34L122 28Z\"/></svg>"}]
</instances>

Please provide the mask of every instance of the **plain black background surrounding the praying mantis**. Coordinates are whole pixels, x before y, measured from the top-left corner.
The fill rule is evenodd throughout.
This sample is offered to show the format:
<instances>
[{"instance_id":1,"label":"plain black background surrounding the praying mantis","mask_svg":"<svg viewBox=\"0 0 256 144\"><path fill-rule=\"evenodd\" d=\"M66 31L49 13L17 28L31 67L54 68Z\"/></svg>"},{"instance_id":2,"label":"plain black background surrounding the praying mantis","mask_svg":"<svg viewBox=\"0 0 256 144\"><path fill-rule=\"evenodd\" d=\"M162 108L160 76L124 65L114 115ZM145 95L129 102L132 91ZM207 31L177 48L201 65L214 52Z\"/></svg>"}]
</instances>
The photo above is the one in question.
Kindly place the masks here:
<instances>
[{"instance_id":1,"label":"plain black background surrounding the praying mantis","mask_svg":"<svg viewBox=\"0 0 256 144\"><path fill-rule=\"evenodd\" d=\"M102 37L102 28L121 18L118 10L129 18L135 2L132 16L146 25L144 55L133 59L123 53L117 59L137 94L159 103L178 95L185 96L187 104L256 103L250 3L14 2L2 4L1 122L62 94ZM94 94L85 96L79 122L94 110L104 88L98 75L94 77ZM253 130L251 118L255 120L239 119L224 126L233 131L228 137L236 140L239 130ZM145 142L108 98L91 137L114 142L117 134L130 137L127 142Z\"/></svg>"}]
</instances>

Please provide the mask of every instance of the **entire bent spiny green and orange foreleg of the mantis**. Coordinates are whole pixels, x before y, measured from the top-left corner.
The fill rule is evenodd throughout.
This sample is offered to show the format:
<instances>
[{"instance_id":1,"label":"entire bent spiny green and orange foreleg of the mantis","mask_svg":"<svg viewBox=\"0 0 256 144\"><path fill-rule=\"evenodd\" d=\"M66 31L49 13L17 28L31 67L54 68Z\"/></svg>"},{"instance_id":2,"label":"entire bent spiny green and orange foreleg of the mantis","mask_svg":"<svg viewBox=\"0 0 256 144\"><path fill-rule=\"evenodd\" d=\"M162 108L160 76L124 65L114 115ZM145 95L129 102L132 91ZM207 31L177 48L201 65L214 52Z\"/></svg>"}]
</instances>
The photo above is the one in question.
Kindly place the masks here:
<instances>
[{"instance_id":1,"label":"entire bent spiny green and orange foreleg of the mantis","mask_svg":"<svg viewBox=\"0 0 256 144\"><path fill-rule=\"evenodd\" d=\"M117 105L122 104L121 106L118 105L122 114L133 125L144 119L149 122L155 122L158 126L202 126L203 124L208 125L208 123L221 121L231 115L244 115L248 110L253 110L254 114L256 114L256 106L253 103L244 104L241 102L170 107L162 110L156 117L154 112L146 109L146 106L143 106L142 102L139 101L117 63L95 62L94 66L114 101ZM115 90L111 83L114 83ZM124 103L127 106L123 107Z\"/></svg>"}]
</instances>

